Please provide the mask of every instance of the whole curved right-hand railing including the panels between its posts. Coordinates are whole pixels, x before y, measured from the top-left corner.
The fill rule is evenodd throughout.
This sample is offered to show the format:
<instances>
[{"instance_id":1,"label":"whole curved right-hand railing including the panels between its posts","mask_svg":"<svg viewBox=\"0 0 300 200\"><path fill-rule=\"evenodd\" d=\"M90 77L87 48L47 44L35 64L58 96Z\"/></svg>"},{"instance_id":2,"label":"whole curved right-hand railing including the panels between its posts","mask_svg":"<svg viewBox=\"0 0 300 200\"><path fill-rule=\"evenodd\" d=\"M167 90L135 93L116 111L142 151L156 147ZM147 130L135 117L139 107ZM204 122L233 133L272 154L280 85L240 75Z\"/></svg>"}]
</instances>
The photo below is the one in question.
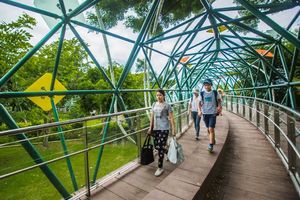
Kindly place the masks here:
<instances>
[{"instance_id":1,"label":"whole curved right-hand railing including the panels between its posts","mask_svg":"<svg viewBox=\"0 0 300 200\"><path fill-rule=\"evenodd\" d=\"M227 111L247 119L266 136L300 192L300 113L265 99L227 95L224 100Z\"/></svg>"}]
</instances>

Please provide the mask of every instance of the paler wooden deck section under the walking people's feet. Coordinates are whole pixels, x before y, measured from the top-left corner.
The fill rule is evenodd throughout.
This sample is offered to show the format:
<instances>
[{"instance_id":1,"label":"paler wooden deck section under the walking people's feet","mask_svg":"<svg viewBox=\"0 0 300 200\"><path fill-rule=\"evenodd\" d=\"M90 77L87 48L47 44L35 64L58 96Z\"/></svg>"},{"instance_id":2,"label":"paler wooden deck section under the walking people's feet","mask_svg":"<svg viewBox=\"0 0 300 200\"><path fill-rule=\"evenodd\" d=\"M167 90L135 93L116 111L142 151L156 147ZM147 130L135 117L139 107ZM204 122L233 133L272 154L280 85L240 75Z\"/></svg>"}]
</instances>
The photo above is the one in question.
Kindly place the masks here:
<instances>
[{"instance_id":1,"label":"paler wooden deck section under the walking people's feet","mask_svg":"<svg viewBox=\"0 0 300 200\"><path fill-rule=\"evenodd\" d=\"M185 154L185 161L181 165L175 166L164 161L165 172L160 177L154 176L156 162L139 166L102 185L92 193L91 199L192 199L203 185L227 138L228 121L224 118L219 124L215 153L207 152L207 132L201 123L200 141L195 140L193 127L179 139Z\"/></svg>"}]
</instances>

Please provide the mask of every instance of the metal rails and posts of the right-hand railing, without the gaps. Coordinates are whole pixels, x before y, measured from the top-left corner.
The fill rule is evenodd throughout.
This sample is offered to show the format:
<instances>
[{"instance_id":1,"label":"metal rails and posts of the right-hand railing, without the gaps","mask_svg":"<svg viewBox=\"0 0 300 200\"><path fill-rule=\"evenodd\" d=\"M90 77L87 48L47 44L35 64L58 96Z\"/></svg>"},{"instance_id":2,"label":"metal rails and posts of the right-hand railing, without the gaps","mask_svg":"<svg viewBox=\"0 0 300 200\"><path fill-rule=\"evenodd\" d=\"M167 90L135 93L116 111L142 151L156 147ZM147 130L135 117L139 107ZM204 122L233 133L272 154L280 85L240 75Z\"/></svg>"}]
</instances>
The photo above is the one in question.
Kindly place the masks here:
<instances>
[{"instance_id":1,"label":"metal rails and posts of the right-hand railing, without the gaps","mask_svg":"<svg viewBox=\"0 0 300 200\"><path fill-rule=\"evenodd\" d=\"M236 98L237 101L233 101L233 99ZM241 103L238 101L238 99L243 99L243 102ZM247 101L245 100L253 100L253 106L250 106L249 103L247 104ZM245 118L246 120L250 121L252 124L254 124L262 133L265 134L266 138L269 140L269 142L272 144L272 146L275 148L277 154L281 158L284 166L286 167L291 180L300 196L300 177L299 177L299 168L297 168L297 160L300 159L300 152L296 146L296 133L299 131L296 127L297 118L300 117L300 112L297 112L296 110L293 110L287 106L278 104L276 102L271 102L266 99L259 99L254 97L247 97L247 96L235 96L235 95L226 95L226 107L228 106L227 102L230 102L230 108L227 110L239 115L240 117ZM236 112L233 108L233 104L236 104ZM256 104L256 106L254 106ZM241 111L239 111L240 106L243 106L243 112L241 114ZM267 105L267 112L257 109L259 108L259 105ZM246 117L245 113L245 107L249 108L249 119ZM276 119L272 119L269 116L270 110L269 107L272 107L272 110L274 112L274 116L270 115L271 117L276 117ZM252 112L255 111L255 112ZM287 114L287 122L280 118L280 112L284 112ZM256 124L253 122L253 114L256 113ZM275 113L277 113L275 115ZM262 126L260 124L260 116L264 118L264 125ZM284 125L287 126L287 132L284 132L284 130L280 127L281 121L284 122ZM267 123L266 123L267 122ZM274 125L274 131L277 129L277 131L274 132L274 138L268 133L269 130L269 123L271 122ZM285 141L287 142L288 152L284 152L280 145L280 137L283 136Z\"/></svg>"}]
</instances>

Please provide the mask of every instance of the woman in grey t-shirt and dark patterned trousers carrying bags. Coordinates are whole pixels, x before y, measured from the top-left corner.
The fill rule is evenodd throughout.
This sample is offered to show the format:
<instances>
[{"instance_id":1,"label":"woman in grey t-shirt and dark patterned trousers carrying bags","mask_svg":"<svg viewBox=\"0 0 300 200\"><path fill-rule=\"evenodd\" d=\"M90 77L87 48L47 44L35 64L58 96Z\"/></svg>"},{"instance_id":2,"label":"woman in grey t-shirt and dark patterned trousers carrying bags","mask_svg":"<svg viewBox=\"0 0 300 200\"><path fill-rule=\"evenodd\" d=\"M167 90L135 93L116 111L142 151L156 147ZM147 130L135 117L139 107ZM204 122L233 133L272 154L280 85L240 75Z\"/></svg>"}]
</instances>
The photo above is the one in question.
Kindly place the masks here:
<instances>
[{"instance_id":1,"label":"woman in grey t-shirt and dark patterned trousers carrying bags","mask_svg":"<svg viewBox=\"0 0 300 200\"><path fill-rule=\"evenodd\" d=\"M163 161L164 154L167 153L165 147L169 135L170 122L173 137L176 136L176 132L172 107L165 101L165 91L157 90L156 99L157 101L152 105L148 134L153 135L154 148L158 151L158 168L154 175L160 176L164 171Z\"/></svg>"}]
</instances>

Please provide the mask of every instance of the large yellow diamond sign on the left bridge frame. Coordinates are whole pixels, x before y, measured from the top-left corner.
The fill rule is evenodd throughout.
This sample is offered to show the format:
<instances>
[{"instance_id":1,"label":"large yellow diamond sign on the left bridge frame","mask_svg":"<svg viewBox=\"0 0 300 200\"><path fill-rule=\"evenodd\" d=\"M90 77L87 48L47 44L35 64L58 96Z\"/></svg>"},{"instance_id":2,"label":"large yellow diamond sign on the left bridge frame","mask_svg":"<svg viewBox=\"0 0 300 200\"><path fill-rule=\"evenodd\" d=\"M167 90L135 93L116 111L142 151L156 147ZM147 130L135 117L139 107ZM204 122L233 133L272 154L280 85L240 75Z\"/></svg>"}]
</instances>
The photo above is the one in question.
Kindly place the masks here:
<instances>
[{"instance_id":1,"label":"large yellow diamond sign on the left bridge frame","mask_svg":"<svg viewBox=\"0 0 300 200\"><path fill-rule=\"evenodd\" d=\"M25 92L40 92L40 91L50 91L50 85L52 80L52 74L46 73L37 81L35 81L31 86L29 86ZM53 91L66 91L67 89L63 84L61 84L57 79L55 79ZM54 104L56 105L60 100L64 98L65 95L53 96ZM47 96L37 96L28 97L33 103L41 107L44 111L51 110L51 101Z\"/></svg>"}]
</instances>

